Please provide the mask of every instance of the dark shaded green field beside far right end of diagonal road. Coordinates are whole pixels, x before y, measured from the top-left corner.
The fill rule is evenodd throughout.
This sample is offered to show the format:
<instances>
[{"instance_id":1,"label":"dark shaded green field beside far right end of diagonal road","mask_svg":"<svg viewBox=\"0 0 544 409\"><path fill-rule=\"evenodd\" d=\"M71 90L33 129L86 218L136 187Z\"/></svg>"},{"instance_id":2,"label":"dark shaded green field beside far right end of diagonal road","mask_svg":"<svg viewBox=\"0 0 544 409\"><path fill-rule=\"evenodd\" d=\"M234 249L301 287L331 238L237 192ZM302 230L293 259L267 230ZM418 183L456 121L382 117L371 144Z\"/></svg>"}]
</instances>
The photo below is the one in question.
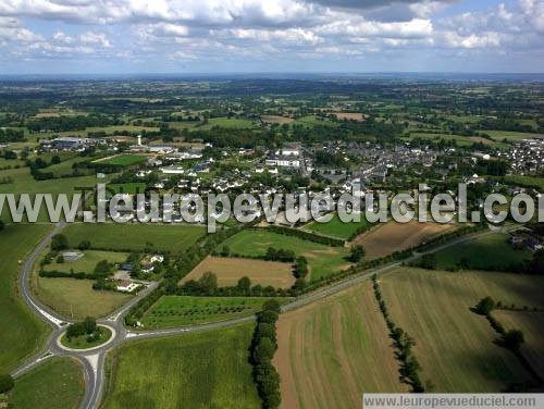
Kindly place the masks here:
<instances>
[{"instance_id":1,"label":"dark shaded green field beside far right end of diagonal road","mask_svg":"<svg viewBox=\"0 0 544 409\"><path fill-rule=\"evenodd\" d=\"M529 250L516 250L507 240L506 234L490 234L448 247L435 253L437 268L453 269L466 259L471 270L500 270L531 258Z\"/></svg>"}]
</instances>

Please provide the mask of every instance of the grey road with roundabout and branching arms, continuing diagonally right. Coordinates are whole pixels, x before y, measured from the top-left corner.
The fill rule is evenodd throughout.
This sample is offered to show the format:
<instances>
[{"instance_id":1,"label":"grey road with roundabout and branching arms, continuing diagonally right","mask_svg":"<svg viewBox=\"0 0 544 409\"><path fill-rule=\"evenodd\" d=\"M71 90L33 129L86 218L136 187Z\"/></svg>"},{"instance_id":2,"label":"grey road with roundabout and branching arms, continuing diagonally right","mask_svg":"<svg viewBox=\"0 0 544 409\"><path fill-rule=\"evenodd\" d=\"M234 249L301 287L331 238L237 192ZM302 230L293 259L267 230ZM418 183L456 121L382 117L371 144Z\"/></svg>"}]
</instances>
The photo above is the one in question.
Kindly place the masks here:
<instances>
[{"instance_id":1,"label":"grey road with roundabout and branching arms, continuing diagonally right","mask_svg":"<svg viewBox=\"0 0 544 409\"><path fill-rule=\"evenodd\" d=\"M140 292L136 297L134 297L129 302L124 305L122 308L113 312L106 319L98 320L98 324L108 325L112 331L112 338L99 347L92 348L90 350L70 350L64 347L59 342L60 336L64 333L67 324L72 322L66 318L60 317L57 312L50 308L44 306L40 301L34 298L30 288L30 276L33 268L42 253L42 251L49 246L51 238L62 232L65 227L65 222L57 223L54 228L34 248L34 250L26 257L21 267L21 276L18 281L18 288L21 296L28 305L28 307L44 321L46 321L52 329L51 334L44 347L44 349L29 358L21 367L12 372L12 375L16 379L29 371L34 367L40 364L42 361L51 357L72 357L77 359L84 368L84 380L85 380L85 395L82 400L81 407L83 409L94 409L100 405L100 400L103 392L104 384L104 359L109 350L119 347L122 343L129 342L131 339L140 338L154 338L163 337L169 335L183 334L196 331L215 330L223 329L232 325L236 325L243 322L250 322L256 319L256 315L244 317L239 319L233 319L227 321L221 321L205 325L194 325L194 326L183 326L172 330L158 330L158 331L134 331L126 329L124 325L124 318L128 313L129 309L138 302L141 298L146 297L150 292L157 288L158 283L152 283L145 290ZM459 243L472 240L477 237L483 235L493 234L493 231L486 231L482 233L472 234L470 236L459 237L444 244L442 246L435 247L426 252L435 252L444 248L457 245ZM290 311L311 302L316 302L324 297L329 297L336 294L345 288L348 288L357 283L370 278L373 274L385 273L396 267L399 267L403 262L411 262L426 252L415 253L409 259L403 261L393 262L381 268L376 268L370 271L366 271L359 274L351 275L343 281L339 281L330 286L323 287L319 290L306 294L298 297L294 301L284 305L283 311Z\"/></svg>"}]
</instances>

